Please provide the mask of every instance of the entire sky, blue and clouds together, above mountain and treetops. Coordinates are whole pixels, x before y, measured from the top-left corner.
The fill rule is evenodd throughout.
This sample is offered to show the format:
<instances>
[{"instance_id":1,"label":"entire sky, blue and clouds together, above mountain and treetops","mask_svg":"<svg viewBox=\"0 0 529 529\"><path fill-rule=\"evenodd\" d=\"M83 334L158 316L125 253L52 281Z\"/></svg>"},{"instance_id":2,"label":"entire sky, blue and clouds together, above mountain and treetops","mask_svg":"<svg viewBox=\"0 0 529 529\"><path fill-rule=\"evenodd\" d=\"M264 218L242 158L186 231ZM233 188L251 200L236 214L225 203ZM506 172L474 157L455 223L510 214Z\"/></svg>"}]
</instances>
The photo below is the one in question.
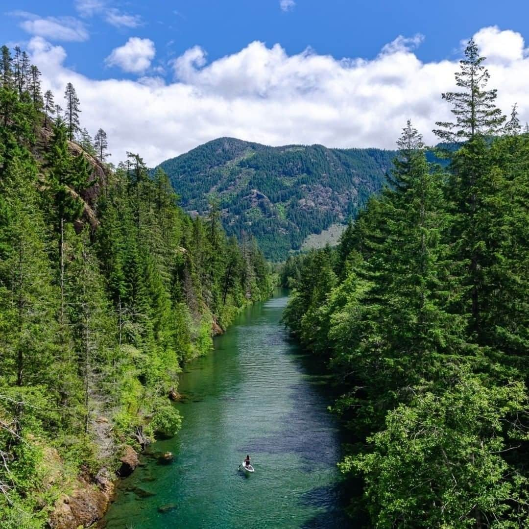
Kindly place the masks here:
<instances>
[{"instance_id":1,"label":"entire sky, blue and clouds together, above mountain and treetops","mask_svg":"<svg viewBox=\"0 0 529 529\"><path fill-rule=\"evenodd\" d=\"M77 89L113 161L154 165L220 136L394 148L408 118L434 143L464 42L507 114L529 121L529 4L468 0L74 0L6 3L2 40L44 89Z\"/></svg>"}]
</instances>

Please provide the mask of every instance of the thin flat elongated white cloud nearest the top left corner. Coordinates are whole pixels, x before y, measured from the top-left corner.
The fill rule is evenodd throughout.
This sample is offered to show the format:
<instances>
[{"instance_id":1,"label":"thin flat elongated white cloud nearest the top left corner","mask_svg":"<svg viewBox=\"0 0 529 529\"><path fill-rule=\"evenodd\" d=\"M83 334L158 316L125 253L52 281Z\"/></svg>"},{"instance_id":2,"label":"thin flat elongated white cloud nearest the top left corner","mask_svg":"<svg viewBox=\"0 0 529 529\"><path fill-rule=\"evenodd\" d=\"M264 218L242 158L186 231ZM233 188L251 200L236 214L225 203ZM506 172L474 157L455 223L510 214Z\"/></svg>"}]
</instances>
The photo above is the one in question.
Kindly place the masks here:
<instances>
[{"instance_id":1,"label":"thin flat elongated white cloud nearest the top left corner","mask_svg":"<svg viewBox=\"0 0 529 529\"><path fill-rule=\"evenodd\" d=\"M30 33L49 40L85 41L89 34L85 25L73 16L40 17L27 11L12 11L12 16L24 19L20 27Z\"/></svg>"}]
</instances>

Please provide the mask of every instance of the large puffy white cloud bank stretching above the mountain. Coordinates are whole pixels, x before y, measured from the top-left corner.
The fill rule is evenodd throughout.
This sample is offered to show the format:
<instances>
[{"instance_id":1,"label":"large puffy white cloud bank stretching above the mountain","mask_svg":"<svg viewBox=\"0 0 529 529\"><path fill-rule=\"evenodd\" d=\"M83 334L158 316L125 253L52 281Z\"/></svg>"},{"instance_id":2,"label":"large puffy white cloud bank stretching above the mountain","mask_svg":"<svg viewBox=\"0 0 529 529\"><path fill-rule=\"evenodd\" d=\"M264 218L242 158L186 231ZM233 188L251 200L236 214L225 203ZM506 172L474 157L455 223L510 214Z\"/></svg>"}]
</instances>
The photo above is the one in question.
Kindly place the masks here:
<instances>
[{"instance_id":1,"label":"large puffy white cloud bank stretching above the mountain","mask_svg":"<svg viewBox=\"0 0 529 529\"><path fill-rule=\"evenodd\" d=\"M529 120L522 36L485 28L475 37L493 59L490 87L498 88L498 105L508 112L518 102L522 122ZM68 81L74 84L83 126L106 130L113 160L129 150L155 165L220 136L269 145L393 149L408 118L426 142L436 142L430 132L435 121L452 118L441 92L454 88L458 61L422 62L411 49L419 39L402 39L371 60L337 60L312 50L289 55L279 44L252 42L208 62L206 52L194 47L172 63L171 83L156 76L89 79L65 66L62 47L39 38L28 51L43 72L43 88L57 99Z\"/></svg>"}]
</instances>

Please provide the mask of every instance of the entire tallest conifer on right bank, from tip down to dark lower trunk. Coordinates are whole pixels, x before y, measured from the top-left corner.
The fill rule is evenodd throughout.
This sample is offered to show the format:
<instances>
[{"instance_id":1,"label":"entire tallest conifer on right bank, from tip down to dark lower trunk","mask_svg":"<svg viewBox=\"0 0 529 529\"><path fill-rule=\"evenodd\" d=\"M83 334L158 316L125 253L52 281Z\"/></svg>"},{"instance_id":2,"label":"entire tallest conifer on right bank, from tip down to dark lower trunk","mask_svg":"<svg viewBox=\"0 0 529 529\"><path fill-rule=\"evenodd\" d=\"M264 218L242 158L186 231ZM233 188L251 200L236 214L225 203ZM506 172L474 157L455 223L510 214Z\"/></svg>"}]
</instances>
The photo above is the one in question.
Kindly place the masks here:
<instances>
[{"instance_id":1,"label":"entire tallest conifer on right bank, from tip down to dark lower trunk","mask_svg":"<svg viewBox=\"0 0 529 529\"><path fill-rule=\"evenodd\" d=\"M469 327L475 339L480 341L484 271L488 266L485 248L487 231L491 227L491 217L486 214L491 184L486 136L500 131L505 116L495 106L496 90L486 90L489 74L483 65L485 58L479 56L472 40L465 56L460 61L461 71L455 74L463 91L443 94L446 101L453 103L452 112L457 121L437 123L443 128L434 132L446 141L467 140L452 157L448 185L449 198L455 208L452 237L457 242L453 246L453 259L468 263L460 279L465 295L462 305L455 310L470 312Z\"/></svg>"}]
</instances>

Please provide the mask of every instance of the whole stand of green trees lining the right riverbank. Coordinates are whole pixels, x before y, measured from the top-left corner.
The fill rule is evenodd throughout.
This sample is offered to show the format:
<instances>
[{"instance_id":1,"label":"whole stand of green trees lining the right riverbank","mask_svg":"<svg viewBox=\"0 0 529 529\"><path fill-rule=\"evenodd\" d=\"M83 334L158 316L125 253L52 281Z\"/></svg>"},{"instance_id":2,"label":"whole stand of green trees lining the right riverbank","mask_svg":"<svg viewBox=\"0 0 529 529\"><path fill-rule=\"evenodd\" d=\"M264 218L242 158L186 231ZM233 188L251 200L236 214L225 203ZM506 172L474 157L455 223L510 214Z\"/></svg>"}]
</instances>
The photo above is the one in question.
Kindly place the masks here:
<instances>
[{"instance_id":1,"label":"whole stand of green trees lining the right riverbank","mask_svg":"<svg viewBox=\"0 0 529 529\"><path fill-rule=\"evenodd\" d=\"M484 60L470 41L442 96L446 162L408 122L338 248L282 271L286 324L341 388L339 467L370 527L529 524L529 131Z\"/></svg>"}]
</instances>

